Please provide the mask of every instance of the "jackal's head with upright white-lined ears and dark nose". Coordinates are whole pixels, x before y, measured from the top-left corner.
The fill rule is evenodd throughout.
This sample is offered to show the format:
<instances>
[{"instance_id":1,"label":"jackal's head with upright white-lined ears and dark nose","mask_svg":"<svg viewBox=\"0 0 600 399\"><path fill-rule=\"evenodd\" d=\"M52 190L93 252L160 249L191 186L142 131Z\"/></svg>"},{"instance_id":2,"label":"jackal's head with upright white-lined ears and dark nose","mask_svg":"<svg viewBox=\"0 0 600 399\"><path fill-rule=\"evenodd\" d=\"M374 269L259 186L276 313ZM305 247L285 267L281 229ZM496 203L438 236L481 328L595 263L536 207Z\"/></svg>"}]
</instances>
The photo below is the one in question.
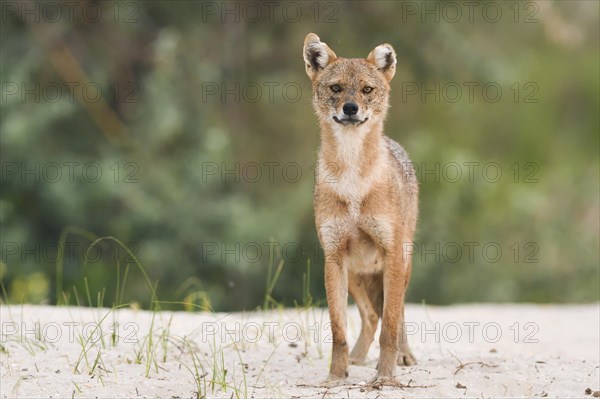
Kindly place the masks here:
<instances>
[{"instance_id":1,"label":"jackal's head with upright white-lined ears and dark nose","mask_svg":"<svg viewBox=\"0 0 600 399\"><path fill-rule=\"evenodd\" d=\"M379 45L365 59L347 59L309 33L304 39L304 62L313 83L313 106L322 122L335 128L383 121L389 82L396 72L392 46Z\"/></svg>"}]
</instances>

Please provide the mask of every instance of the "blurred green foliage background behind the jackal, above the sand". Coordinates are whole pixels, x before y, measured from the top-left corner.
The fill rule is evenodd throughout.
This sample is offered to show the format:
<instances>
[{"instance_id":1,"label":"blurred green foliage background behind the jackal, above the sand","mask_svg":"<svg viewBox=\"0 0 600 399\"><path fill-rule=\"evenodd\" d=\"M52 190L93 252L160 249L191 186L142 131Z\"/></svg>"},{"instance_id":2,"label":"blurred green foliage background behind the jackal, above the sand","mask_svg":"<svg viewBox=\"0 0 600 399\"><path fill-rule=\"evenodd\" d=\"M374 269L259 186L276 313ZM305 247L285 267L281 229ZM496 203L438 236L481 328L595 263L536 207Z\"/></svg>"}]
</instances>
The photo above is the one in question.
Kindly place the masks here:
<instances>
[{"instance_id":1,"label":"blurred green foliage background behind the jackal, above the sand","mask_svg":"<svg viewBox=\"0 0 600 399\"><path fill-rule=\"evenodd\" d=\"M273 301L308 279L322 304L308 32L398 54L386 133L421 182L409 301L599 299L599 3L496 2L496 22L488 2L472 21L452 2L457 22L433 1L71 3L2 2L10 301L148 306L132 256L95 241L112 236L174 308L260 306L282 259Z\"/></svg>"}]
</instances>

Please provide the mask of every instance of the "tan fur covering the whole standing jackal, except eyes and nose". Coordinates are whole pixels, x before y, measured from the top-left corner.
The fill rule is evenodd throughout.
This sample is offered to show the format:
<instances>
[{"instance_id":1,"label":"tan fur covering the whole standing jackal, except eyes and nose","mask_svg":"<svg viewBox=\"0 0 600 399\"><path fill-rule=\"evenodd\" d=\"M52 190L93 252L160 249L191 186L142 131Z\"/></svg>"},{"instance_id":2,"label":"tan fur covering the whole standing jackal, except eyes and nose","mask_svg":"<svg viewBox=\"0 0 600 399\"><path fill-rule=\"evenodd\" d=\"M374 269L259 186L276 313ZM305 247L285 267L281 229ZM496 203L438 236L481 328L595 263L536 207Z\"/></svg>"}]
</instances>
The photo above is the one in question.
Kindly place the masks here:
<instances>
[{"instance_id":1,"label":"tan fur covering the whole standing jackal, except eyes and nose","mask_svg":"<svg viewBox=\"0 0 600 399\"><path fill-rule=\"evenodd\" d=\"M391 378L396 364L415 364L404 329L411 273L404 249L412 244L418 212L412 164L404 149L383 135L396 54L383 44L366 59L345 59L310 33L304 40L304 61L321 127L314 209L333 333L329 375L344 378L349 362L364 363L381 318L376 378ZM363 91L365 87L372 91ZM343 107L349 102L358 105L352 121L344 120L349 116ZM362 319L350 354L348 293Z\"/></svg>"}]
</instances>

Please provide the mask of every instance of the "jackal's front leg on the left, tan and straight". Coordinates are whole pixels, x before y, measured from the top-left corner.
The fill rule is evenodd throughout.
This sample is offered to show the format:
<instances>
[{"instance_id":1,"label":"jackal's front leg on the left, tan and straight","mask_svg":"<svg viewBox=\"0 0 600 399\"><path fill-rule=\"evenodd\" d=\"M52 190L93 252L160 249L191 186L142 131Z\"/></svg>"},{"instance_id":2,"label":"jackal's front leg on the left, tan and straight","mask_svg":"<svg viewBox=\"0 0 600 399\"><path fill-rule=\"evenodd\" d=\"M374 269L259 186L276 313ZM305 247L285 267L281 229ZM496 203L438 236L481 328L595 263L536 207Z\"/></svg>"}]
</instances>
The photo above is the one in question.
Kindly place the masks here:
<instances>
[{"instance_id":1,"label":"jackal's front leg on the left, tan and straight","mask_svg":"<svg viewBox=\"0 0 600 399\"><path fill-rule=\"evenodd\" d=\"M346 308L348 306L348 271L340 258L325 255L325 289L333 336L330 379L347 376L348 343L346 342Z\"/></svg>"}]
</instances>

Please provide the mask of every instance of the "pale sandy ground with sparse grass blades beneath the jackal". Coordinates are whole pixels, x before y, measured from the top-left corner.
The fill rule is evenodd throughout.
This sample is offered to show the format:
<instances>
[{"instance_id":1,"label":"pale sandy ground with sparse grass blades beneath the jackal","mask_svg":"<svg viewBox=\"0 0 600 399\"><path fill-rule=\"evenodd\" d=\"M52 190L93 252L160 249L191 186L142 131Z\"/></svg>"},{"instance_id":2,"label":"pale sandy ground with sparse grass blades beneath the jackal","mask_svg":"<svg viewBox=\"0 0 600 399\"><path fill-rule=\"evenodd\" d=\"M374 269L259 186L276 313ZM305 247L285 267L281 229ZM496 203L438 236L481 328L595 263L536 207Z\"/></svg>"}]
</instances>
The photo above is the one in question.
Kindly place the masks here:
<instances>
[{"instance_id":1,"label":"pale sandy ground with sparse grass blades beneath the jackal","mask_svg":"<svg viewBox=\"0 0 600 399\"><path fill-rule=\"evenodd\" d=\"M327 311L151 313L1 306L0 397L593 397L600 304L409 305L418 359L395 383L364 366L325 382ZM351 343L360 318L349 312ZM591 393L586 394L590 388ZM588 391L589 392L589 391ZM600 395L600 393L597 393Z\"/></svg>"}]
</instances>

